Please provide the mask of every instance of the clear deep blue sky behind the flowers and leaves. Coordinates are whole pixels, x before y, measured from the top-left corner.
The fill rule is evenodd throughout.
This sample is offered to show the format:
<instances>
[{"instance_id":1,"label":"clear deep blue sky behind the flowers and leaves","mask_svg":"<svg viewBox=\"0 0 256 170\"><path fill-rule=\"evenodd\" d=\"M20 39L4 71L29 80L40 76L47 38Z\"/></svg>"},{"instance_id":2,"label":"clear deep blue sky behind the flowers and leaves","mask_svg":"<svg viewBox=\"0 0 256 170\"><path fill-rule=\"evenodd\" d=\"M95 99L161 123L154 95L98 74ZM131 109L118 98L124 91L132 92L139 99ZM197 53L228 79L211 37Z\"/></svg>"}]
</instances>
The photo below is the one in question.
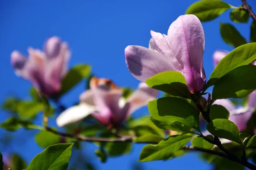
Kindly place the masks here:
<instances>
[{"instance_id":1,"label":"clear deep blue sky behind the flowers and leaves","mask_svg":"<svg viewBox=\"0 0 256 170\"><path fill-rule=\"evenodd\" d=\"M241 5L240 0L225 0L233 6ZM151 38L150 30L167 34L169 25L194 0L1 0L0 1L0 102L7 96L17 95L29 99L29 82L15 76L10 65L10 54L17 49L27 54L28 46L42 48L44 40L52 35L61 37L69 43L72 50L70 67L78 63L92 65L93 74L112 79L119 86L136 88L139 81L131 76L126 65L124 49L127 45L147 47ZM255 0L248 0L256 11ZM228 51L233 48L221 39L219 23L231 23L229 11L216 20L203 23L205 33L204 68L209 77L213 70L212 54L216 49ZM250 22L251 23L251 19ZM241 34L249 40L250 25L234 24ZM81 83L70 91L62 102L71 105L78 101L84 90ZM68 100L67 100L68 99ZM145 113L146 108L137 111ZM1 112L0 122L7 114ZM38 122L40 122L40 116ZM4 130L0 130L0 135ZM36 146L32 131L21 136L23 130L15 133L16 142L8 148L0 148L20 153L29 163L43 149ZM137 161L143 145L134 145L132 153L127 156L108 159L106 164L97 163L99 170L131 169L131 162ZM92 144L87 145L85 152L95 157ZM118 148L117 148L118 149ZM95 157L96 158L96 157ZM169 169L209 169L210 166L199 159L196 153L170 161L142 163L147 170L159 167ZM191 166L193 164L193 166ZM195 166L196 164L196 166Z\"/></svg>"}]
</instances>

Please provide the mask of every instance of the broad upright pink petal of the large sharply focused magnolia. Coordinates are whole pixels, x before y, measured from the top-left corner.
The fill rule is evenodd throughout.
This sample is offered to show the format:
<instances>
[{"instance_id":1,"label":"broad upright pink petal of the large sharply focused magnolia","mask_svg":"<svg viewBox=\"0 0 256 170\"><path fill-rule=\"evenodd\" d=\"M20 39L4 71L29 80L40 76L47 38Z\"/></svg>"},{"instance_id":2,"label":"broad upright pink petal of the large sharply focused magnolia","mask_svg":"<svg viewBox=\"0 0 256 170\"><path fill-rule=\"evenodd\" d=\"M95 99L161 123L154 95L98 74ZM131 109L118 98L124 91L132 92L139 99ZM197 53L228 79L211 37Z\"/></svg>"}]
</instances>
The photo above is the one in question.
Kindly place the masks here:
<instances>
[{"instance_id":1,"label":"broad upright pink petal of the large sharply focused magnolia","mask_svg":"<svg viewBox=\"0 0 256 170\"><path fill-rule=\"evenodd\" d=\"M189 91L200 92L206 83L203 68L204 30L198 17L181 15L168 30L169 46L183 69Z\"/></svg>"}]
</instances>

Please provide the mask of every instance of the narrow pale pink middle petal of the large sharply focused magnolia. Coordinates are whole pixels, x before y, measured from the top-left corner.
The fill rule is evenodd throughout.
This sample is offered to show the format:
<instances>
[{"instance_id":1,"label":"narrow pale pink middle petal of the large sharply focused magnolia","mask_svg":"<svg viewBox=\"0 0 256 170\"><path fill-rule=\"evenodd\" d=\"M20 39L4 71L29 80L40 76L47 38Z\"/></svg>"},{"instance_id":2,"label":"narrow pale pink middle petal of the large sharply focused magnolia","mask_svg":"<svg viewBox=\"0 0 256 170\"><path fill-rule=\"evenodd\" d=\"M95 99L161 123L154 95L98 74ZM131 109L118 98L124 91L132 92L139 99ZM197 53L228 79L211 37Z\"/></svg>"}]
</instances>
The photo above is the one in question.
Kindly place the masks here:
<instances>
[{"instance_id":1,"label":"narrow pale pink middle petal of the large sharply focused magnolia","mask_svg":"<svg viewBox=\"0 0 256 170\"><path fill-rule=\"evenodd\" d=\"M182 71L180 64L178 63L175 55L172 52L172 49L169 47L169 41L166 41L166 38L163 34L155 31L150 31L151 36L157 46L157 49L160 54L163 54L166 58L170 59L172 64L175 66L176 71ZM166 35L165 35L166 36Z\"/></svg>"}]
</instances>

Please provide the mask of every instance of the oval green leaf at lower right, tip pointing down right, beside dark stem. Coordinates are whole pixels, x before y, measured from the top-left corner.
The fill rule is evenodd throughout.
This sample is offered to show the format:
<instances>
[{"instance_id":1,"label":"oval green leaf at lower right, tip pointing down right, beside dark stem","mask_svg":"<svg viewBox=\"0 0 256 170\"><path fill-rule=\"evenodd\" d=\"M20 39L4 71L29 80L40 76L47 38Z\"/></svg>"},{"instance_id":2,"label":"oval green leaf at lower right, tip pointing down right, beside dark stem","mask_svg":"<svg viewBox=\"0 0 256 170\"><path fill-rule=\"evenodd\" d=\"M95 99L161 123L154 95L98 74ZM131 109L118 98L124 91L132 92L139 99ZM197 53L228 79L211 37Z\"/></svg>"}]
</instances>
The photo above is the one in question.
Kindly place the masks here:
<instances>
[{"instance_id":1,"label":"oval green leaf at lower right, tip pointing down right, beside dark stem","mask_svg":"<svg viewBox=\"0 0 256 170\"><path fill-rule=\"evenodd\" d=\"M214 119L207 124L206 128L214 136L242 144L238 127L228 119Z\"/></svg>"}]
</instances>

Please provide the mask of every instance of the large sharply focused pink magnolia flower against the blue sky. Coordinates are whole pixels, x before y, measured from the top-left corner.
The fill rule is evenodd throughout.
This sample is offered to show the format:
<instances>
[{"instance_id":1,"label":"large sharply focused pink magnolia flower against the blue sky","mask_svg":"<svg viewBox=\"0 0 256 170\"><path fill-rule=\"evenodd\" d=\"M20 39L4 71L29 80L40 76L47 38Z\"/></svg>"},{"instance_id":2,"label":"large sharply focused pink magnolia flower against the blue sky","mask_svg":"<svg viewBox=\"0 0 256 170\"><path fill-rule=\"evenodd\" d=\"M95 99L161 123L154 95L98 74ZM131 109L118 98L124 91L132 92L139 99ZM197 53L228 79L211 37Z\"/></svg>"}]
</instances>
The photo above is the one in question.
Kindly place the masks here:
<instances>
[{"instance_id":1,"label":"large sharply focused pink magnolia flower against the blue sky","mask_svg":"<svg viewBox=\"0 0 256 170\"><path fill-rule=\"evenodd\" d=\"M169 27L168 34L151 31L149 48L129 45L125 61L138 80L163 71L179 71L191 93L202 91L206 83L203 68L204 30L198 17L181 15Z\"/></svg>"}]
</instances>

